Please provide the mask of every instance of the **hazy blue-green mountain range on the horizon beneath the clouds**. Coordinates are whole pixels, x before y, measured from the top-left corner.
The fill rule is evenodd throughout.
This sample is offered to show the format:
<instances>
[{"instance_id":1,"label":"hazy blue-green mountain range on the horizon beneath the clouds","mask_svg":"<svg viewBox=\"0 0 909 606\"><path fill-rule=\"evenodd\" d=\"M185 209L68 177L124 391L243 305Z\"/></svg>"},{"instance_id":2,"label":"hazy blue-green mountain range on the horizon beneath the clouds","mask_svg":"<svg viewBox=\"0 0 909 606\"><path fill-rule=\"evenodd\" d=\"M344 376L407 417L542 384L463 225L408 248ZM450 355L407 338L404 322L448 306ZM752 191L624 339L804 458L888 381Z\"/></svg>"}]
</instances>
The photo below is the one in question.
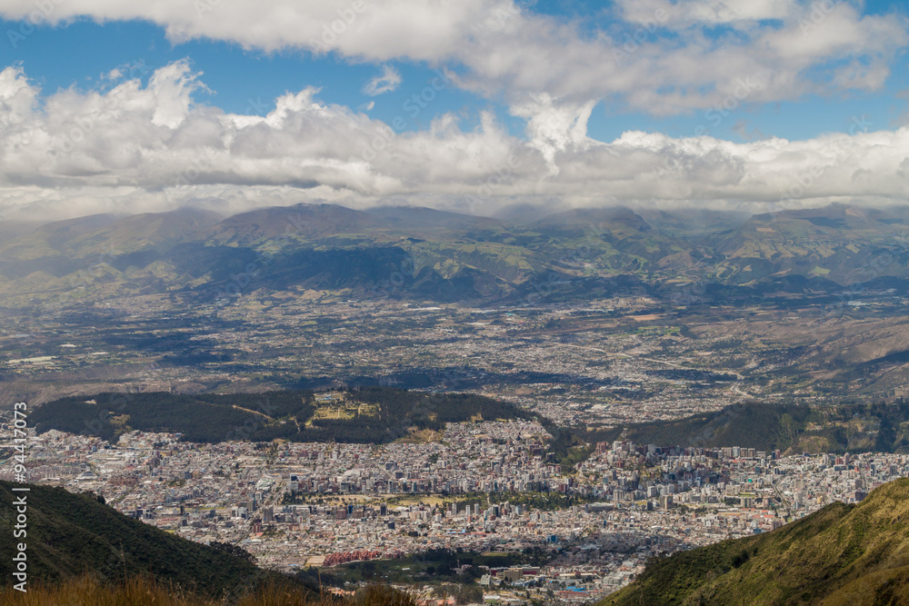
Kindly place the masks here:
<instances>
[{"instance_id":1,"label":"hazy blue-green mountain range on the horizon beneath the clouds","mask_svg":"<svg viewBox=\"0 0 909 606\"><path fill-rule=\"evenodd\" d=\"M522 222L333 204L225 219L190 209L93 215L0 241L0 306L23 307L73 288L85 301L211 293L251 272L251 289L263 292L487 303L539 293L541 283L556 284L546 296L562 298L621 293L623 284L676 301L673 293L693 284L700 299L715 301L834 296L854 284L902 293L907 243L909 209L844 205L750 217L573 209Z\"/></svg>"}]
</instances>

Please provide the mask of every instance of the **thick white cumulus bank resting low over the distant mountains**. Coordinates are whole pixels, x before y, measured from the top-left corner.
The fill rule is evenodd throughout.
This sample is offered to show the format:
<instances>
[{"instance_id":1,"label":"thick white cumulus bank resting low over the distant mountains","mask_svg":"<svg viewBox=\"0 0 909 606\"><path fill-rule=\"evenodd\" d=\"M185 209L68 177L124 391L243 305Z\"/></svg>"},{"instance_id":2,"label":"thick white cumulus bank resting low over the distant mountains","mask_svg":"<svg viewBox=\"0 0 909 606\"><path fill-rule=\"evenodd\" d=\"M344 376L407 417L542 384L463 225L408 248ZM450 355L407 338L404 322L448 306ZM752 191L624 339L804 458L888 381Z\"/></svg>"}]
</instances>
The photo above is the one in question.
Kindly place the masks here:
<instances>
[{"instance_id":1,"label":"thick white cumulus bank resting low over the distant mountains","mask_svg":"<svg viewBox=\"0 0 909 606\"><path fill-rule=\"evenodd\" d=\"M323 103L311 87L279 97L261 116L195 104L202 86L180 61L145 86L134 79L42 97L21 67L6 67L0 212L64 217L183 204L236 212L389 199L477 214L554 200L778 207L902 202L909 186L905 126L865 132L870 124L858 122L848 134L741 144L627 132L602 143L585 133L589 102L564 109L540 95L515 109L528 116L527 139L508 134L492 114L474 129L445 114L425 131L402 133Z\"/></svg>"}]
</instances>

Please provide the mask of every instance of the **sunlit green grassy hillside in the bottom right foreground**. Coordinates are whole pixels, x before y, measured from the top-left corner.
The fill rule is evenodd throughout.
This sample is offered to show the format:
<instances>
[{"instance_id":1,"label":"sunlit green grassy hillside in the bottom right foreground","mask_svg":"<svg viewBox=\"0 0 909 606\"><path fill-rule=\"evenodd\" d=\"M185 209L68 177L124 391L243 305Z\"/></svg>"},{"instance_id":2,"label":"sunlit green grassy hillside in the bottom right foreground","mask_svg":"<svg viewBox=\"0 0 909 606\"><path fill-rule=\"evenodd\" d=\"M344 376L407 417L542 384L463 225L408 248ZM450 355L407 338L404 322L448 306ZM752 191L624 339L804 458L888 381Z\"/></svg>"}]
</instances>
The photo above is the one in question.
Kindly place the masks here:
<instances>
[{"instance_id":1,"label":"sunlit green grassy hillside in the bottom right foreground","mask_svg":"<svg viewBox=\"0 0 909 606\"><path fill-rule=\"evenodd\" d=\"M653 561L601 601L624 604L909 603L909 479L773 532Z\"/></svg>"}]
</instances>

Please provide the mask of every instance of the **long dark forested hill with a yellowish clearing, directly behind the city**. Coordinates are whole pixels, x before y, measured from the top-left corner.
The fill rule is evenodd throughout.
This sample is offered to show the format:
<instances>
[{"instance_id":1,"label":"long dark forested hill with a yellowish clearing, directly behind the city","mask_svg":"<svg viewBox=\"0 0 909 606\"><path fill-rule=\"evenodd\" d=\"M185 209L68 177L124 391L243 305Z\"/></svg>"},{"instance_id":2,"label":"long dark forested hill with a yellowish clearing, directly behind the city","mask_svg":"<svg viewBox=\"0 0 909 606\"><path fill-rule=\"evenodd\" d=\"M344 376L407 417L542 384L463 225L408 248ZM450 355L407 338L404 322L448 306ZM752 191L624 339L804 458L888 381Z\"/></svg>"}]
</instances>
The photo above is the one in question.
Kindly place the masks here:
<instances>
[{"instance_id":1,"label":"long dark forested hill with a yellowish clearing, directly behind the city","mask_svg":"<svg viewBox=\"0 0 909 606\"><path fill-rule=\"evenodd\" d=\"M187 442L394 442L440 431L446 422L529 419L513 405L471 393L364 387L309 391L180 395L99 393L47 402L32 412L36 430L115 440L124 432L182 433Z\"/></svg>"}]
</instances>

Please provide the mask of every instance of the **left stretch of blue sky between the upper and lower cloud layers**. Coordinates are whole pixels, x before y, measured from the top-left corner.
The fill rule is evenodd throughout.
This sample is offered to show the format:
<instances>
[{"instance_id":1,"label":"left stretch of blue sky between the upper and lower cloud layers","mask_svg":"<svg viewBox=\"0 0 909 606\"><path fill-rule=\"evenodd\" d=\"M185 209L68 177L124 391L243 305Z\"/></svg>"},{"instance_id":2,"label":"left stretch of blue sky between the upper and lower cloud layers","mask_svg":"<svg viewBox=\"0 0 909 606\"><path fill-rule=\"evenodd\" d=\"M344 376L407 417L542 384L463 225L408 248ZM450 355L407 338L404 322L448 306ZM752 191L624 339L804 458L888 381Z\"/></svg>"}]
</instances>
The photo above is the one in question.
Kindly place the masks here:
<instances>
[{"instance_id":1,"label":"left stretch of blue sky between the upper and lower cloud layers","mask_svg":"<svg viewBox=\"0 0 909 606\"><path fill-rule=\"evenodd\" d=\"M0 31L18 31L21 25L0 20ZM83 90L109 86L102 75L117 67L128 77L147 82L155 69L188 58L203 73L201 79L211 90L211 94L198 94L196 101L216 105L225 112L266 114L275 108L275 99L281 94L315 86L325 103L365 111L364 105L374 101L371 115L388 124L402 116L406 130L425 129L433 116L447 112L464 114L467 124L474 124L477 108L490 108L507 118L507 108L502 104L454 86L437 95L431 114L411 118L405 102L436 76L435 69L425 64L392 62L403 76L403 84L391 93L372 97L363 88L381 72L379 65L299 49L268 53L245 50L235 43L212 40L174 44L167 40L163 28L144 22L99 25L80 19L71 25L45 25L17 40L15 49L6 45L4 50L11 51L3 55L5 63L21 62L28 77L45 93L70 86Z\"/></svg>"}]
</instances>

